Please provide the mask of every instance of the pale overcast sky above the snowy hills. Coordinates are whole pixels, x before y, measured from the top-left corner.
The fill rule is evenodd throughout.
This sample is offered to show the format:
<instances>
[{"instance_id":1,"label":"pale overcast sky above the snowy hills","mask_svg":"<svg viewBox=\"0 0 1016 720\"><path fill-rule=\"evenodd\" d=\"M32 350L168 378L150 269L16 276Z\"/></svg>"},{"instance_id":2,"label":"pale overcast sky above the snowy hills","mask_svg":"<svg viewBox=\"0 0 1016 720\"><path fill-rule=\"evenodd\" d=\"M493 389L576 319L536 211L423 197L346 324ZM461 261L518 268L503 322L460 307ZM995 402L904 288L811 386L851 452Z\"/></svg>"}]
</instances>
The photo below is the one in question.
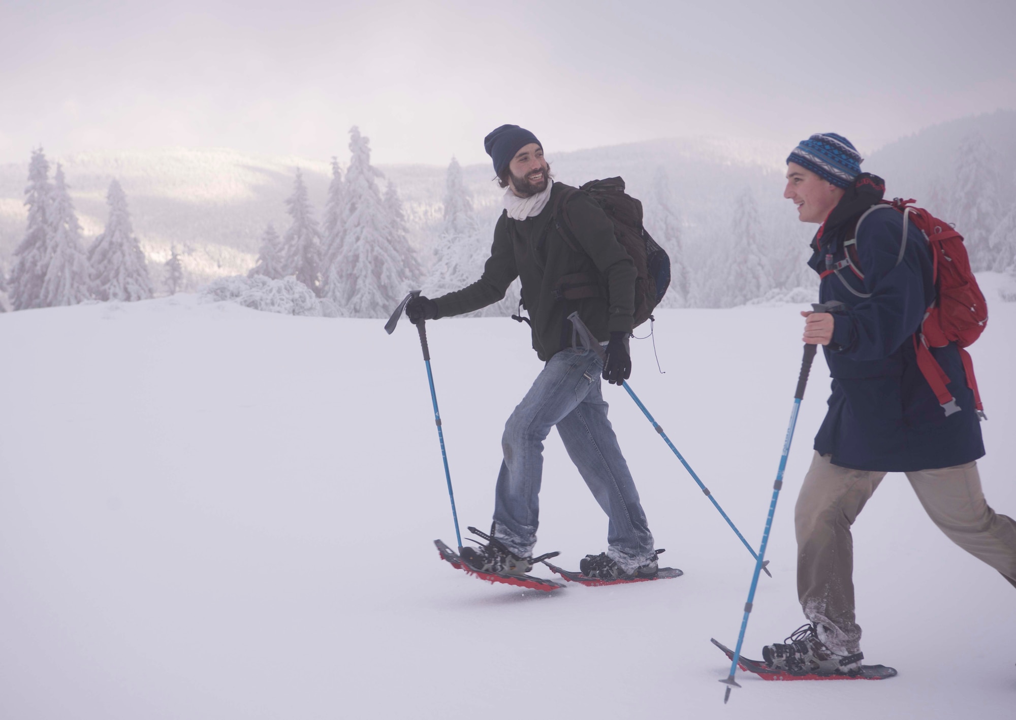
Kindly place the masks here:
<instances>
[{"instance_id":1,"label":"pale overcast sky above the snowy hills","mask_svg":"<svg viewBox=\"0 0 1016 720\"><path fill-rule=\"evenodd\" d=\"M239 9L244 5L250 5ZM0 0L0 161L233 147L486 160L719 135L872 148L1016 108L1016 2Z\"/></svg>"}]
</instances>

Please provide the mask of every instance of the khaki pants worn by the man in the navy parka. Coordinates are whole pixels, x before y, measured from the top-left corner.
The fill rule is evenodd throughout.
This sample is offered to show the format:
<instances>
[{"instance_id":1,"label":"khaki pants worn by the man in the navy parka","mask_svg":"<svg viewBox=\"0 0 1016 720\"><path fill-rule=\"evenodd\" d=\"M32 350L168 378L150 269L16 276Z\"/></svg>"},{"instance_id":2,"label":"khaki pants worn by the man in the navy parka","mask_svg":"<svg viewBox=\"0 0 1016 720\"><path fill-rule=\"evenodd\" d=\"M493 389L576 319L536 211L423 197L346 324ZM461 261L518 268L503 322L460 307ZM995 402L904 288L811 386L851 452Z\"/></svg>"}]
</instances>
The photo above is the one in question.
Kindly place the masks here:
<instances>
[{"instance_id":1,"label":"khaki pants worn by the man in the navy parka","mask_svg":"<svg viewBox=\"0 0 1016 720\"><path fill-rule=\"evenodd\" d=\"M841 654L860 651L853 615L850 525L885 472L850 470L815 453L795 508L798 597L819 638ZM985 502L977 463L907 472L932 521L950 540L1016 586L1016 522Z\"/></svg>"}]
</instances>

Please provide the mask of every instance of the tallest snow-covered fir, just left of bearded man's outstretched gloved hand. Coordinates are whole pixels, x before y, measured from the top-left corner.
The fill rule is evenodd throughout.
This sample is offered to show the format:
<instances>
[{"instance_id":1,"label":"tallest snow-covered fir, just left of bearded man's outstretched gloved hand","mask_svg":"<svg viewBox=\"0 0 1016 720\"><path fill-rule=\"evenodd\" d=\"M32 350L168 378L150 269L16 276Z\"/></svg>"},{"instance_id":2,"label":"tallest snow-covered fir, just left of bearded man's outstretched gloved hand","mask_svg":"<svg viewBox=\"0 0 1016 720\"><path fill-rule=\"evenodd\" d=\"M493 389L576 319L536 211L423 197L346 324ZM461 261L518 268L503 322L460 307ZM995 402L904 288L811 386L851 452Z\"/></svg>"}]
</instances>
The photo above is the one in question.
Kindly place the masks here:
<instances>
[{"instance_id":1,"label":"tallest snow-covered fir, just left of bearded man's outstretched gloved hand","mask_svg":"<svg viewBox=\"0 0 1016 720\"><path fill-rule=\"evenodd\" d=\"M387 317L417 279L412 249L393 230L371 165L369 139L350 130L352 157L345 172L342 247L328 299L352 317Z\"/></svg>"}]
</instances>

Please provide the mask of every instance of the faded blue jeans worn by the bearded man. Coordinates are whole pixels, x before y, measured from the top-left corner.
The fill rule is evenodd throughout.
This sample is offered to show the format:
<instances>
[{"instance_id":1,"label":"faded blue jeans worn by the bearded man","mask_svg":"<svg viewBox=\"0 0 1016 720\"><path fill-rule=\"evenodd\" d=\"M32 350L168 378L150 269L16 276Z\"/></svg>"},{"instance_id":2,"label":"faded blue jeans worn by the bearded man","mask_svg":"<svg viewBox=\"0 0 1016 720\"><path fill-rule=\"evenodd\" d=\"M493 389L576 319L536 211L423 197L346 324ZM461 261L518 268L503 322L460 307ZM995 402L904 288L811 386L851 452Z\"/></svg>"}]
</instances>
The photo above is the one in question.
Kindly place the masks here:
<instances>
[{"instance_id":1,"label":"faded blue jeans worn by the bearded man","mask_svg":"<svg viewBox=\"0 0 1016 720\"><path fill-rule=\"evenodd\" d=\"M608 555L626 572L653 557L652 533L635 481L607 419L608 405L599 392L601 372L602 364L592 350L561 350L505 423L494 534L519 557L531 555L536 544L544 439L553 426L610 518Z\"/></svg>"}]
</instances>

